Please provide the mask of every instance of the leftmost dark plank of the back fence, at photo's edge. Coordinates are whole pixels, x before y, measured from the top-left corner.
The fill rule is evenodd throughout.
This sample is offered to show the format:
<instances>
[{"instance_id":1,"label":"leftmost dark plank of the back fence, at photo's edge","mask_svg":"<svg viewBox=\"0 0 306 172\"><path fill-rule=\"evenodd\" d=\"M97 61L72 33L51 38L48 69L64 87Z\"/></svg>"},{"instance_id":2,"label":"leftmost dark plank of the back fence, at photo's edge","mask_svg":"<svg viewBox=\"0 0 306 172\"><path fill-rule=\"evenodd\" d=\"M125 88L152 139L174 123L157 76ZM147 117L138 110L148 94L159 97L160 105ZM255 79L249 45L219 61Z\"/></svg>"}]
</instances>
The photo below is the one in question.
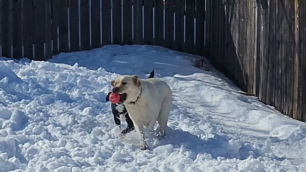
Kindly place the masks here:
<instances>
[{"instance_id":1,"label":"leftmost dark plank of the back fence, at photo's edge","mask_svg":"<svg viewBox=\"0 0 306 172\"><path fill-rule=\"evenodd\" d=\"M3 57L11 57L11 39L10 39L10 31L12 28L12 24L9 19L10 13L10 5L9 1L1 1L2 6L2 56Z\"/></svg>"}]
</instances>

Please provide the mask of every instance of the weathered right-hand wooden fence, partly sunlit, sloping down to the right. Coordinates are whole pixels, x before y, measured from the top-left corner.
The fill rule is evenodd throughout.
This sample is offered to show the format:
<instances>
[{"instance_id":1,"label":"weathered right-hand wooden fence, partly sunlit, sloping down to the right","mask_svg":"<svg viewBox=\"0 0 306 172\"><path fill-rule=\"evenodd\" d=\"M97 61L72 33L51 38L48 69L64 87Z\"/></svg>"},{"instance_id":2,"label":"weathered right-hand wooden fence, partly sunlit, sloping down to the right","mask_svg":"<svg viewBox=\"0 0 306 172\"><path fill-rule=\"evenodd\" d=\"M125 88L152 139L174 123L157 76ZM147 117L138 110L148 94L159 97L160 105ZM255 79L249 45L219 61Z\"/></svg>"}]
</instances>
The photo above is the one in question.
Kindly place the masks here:
<instances>
[{"instance_id":1,"label":"weathered right-hand wooden fence, partly sunlit, sloping down to the right","mask_svg":"<svg viewBox=\"0 0 306 172\"><path fill-rule=\"evenodd\" d=\"M306 1L207 0L212 64L283 114L306 118Z\"/></svg>"}]
</instances>

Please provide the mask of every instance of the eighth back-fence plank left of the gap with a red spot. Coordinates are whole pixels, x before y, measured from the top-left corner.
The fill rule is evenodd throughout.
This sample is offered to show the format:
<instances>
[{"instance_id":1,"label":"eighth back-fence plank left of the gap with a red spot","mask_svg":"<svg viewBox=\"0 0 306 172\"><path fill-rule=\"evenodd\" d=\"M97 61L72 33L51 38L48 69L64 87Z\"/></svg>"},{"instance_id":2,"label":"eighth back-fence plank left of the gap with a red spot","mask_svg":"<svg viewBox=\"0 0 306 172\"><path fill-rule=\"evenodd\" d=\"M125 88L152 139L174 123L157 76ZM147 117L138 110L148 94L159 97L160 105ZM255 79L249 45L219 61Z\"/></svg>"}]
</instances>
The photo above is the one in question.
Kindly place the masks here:
<instances>
[{"instance_id":1,"label":"eighth back-fence plank left of the gap with a red spot","mask_svg":"<svg viewBox=\"0 0 306 172\"><path fill-rule=\"evenodd\" d=\"M80 0L80 30L81 50L90 50L89 0Z\"/></svg>"}]
</instances>

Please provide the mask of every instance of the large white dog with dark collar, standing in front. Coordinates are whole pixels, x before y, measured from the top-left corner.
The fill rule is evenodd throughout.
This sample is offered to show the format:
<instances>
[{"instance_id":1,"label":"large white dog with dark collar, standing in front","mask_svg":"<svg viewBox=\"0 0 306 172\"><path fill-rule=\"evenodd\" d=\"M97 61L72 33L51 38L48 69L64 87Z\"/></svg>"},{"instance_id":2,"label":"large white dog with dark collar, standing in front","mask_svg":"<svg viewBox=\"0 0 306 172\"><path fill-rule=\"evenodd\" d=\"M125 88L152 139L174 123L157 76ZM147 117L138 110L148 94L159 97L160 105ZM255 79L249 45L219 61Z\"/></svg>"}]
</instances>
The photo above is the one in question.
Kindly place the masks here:
<instances>
[{"instance_id":1,"label":"large white dog with dark collar, standing in front","mask_svg":"<svg viewBox=\"0 0 306 172\"><path fill-rule=\"evenodd\" d=\"M112 92L121 96L136 133L140 138L140 149L147 149L143 126L151 132L157 121L158 136L166 136L166 126L172 109L172 91L169 85L159 79L139 79L137 75L123 75L111 82ZM122 99L124 98L124 99Z\"/></svg>"}]
</instances>

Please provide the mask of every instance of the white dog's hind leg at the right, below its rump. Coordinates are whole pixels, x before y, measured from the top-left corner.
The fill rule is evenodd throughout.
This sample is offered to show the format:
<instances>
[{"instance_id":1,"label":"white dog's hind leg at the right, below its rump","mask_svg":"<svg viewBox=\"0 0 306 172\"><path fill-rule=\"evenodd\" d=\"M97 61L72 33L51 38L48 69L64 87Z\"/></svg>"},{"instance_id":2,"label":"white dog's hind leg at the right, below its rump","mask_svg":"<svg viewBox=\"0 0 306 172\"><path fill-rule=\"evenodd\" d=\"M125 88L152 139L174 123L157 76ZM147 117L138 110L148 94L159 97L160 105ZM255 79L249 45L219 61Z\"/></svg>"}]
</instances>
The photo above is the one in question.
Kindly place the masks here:
<instances>
[{"instance_id":1,"label":"white dog's hind leg at the right, below its rump","mask_svg":"<svg viewBox=\"0 0 306 172\"><path fill-rule=\"evenodd\" d=\"M168 96L162 100L162 107L159 111L157 117L157 122L159 124L157 128L157 136L162 138L166 136L166 126L169 120L169 114L172 109L172 96Z\"/></svg>"}]
</instances>

